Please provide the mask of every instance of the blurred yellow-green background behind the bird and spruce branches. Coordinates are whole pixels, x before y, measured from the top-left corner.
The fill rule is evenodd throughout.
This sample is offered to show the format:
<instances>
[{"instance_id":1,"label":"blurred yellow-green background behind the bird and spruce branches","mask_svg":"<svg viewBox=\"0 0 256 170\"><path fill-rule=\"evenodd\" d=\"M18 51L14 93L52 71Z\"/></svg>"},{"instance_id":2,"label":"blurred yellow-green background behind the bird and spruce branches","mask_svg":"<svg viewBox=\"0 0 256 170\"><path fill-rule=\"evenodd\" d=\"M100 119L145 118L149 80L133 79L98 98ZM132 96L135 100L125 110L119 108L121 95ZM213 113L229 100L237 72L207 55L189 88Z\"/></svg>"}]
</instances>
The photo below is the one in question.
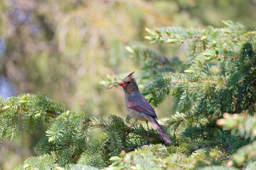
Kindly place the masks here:
<instances>
[{"instance_id":1,"label":"blurred yellow-green background behind the bird and spruce branches","mask_svg":"<svg viewBox=\"0 0 256 170\"><path fill-rule=\"evenodd\" d=\"M222 20L256 26L255 0L1 0L0 9L1 96L41 91L70 110L96 116L127 115L122 89L106 91L97 75L142 70L143 60L130 57L126 45L186 60L182 47L144 40L145 27L222 27ZM159 118L174 113L173 100L156 108ZM36 155L33 147L46 129L38 123L33 135L4 140L0 169Z\"/></svg>"}]
</instances>

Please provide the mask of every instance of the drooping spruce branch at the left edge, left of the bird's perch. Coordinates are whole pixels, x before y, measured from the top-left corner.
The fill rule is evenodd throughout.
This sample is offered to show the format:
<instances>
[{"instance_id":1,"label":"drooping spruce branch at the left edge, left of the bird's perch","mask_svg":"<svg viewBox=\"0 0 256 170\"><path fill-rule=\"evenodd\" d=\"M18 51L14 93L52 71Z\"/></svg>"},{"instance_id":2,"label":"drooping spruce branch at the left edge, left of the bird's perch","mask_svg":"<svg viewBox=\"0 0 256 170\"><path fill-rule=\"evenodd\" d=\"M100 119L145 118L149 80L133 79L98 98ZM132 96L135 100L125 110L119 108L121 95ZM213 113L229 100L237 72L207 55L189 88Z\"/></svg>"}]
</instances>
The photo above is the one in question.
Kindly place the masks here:
<instances>
[{"instance_id":1,"label":"drooping spruce branch at the left edge, left of the bird's perch","mask_svg":"<svg viewBox=\"0 0 256 170\"><path fill-rule=\"evenodd\" d=\"M1 136L11 136L11 140L26 127L32 132L33 125L38 119L48 123L50 118L60 115L65 110L62 103L53 102L44 94L21 94L1 100ZM23 121L24 126L20 127L19 122Z\"/></svg>"}]
</instances>

